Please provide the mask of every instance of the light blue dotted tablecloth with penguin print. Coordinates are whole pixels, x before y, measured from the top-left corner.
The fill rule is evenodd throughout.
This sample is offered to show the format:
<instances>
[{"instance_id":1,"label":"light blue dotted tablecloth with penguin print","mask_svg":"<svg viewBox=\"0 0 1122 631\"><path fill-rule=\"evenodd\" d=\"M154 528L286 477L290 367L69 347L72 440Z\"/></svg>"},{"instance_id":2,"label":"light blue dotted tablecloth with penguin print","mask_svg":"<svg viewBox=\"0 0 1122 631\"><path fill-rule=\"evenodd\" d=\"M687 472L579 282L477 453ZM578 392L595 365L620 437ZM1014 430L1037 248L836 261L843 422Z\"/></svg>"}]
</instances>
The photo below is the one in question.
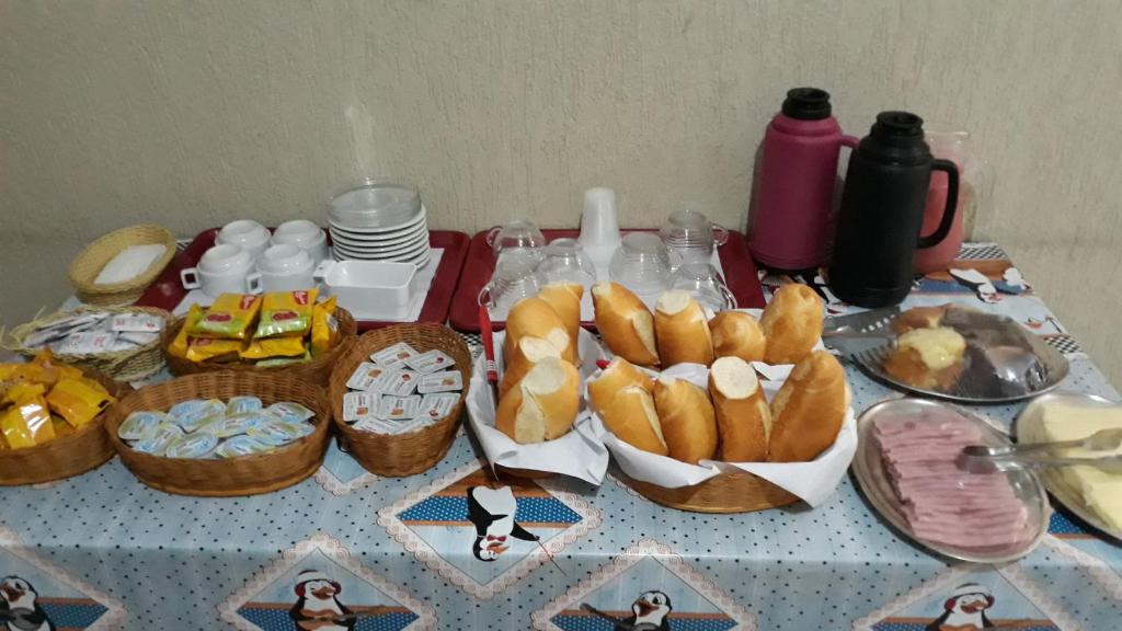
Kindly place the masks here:
<instances>
[{"instance_id":1,"label":"light blue dotted tablecloth with penguin print","mask_svg":"<svg viewBox=\"0 0 1122 631\"><path fill-rule=\"evenodd\" d=\"M905 307L1009 314L1067 354L1065 388L1118 399L1001 248L968 244L953 267L918 278ZM819 274L762 282L808 283L850 311ZM858 410L896 395L849 378ZM1020 409L977 411L1008 426ZM0 488L0 631L1122 629L1122 543L1061 509L1015 564L947 564L849 478L815 510L708 515L610 477L496 481L480 458L461 431L401 479L332 446L313 478L254 497L167 495L116 459Z\"/></svg>"}]
</instances>

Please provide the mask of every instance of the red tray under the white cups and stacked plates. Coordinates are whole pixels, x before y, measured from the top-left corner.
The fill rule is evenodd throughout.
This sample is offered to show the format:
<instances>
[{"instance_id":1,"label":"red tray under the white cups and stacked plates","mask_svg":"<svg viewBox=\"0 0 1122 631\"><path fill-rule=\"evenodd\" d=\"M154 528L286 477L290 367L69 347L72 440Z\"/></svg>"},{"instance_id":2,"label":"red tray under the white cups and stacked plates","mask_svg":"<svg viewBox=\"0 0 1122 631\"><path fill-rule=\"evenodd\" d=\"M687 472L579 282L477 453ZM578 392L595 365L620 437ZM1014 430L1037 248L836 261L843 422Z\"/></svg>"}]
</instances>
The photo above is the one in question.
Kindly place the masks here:
<instances>
[{"instance_id":1,"label":"red tray under the white cups and stacked plates","mask_svg":"<svg viewBox=\"0 0 1122 631\"><path fill-rule=\"evenodd\" d=\"M155 307L172 311L183 296L187 295L186 290L180 283L180 271L194 265L211 246L214 245L214 237L218 228L203 230L183 252L175 255L172 263L156 278L144 295L136 303L140 307ZM331 235L328 235L331 239ZM456 282L460 278L463 269L463 259L468 254L468 235L453 230L433 230L429 232L429 245L434 248L444 248L441 256L440 266L433 276L432 286L429 287L429 295L421 308L419 322L435 322L443 324L448 319L448 309L452 302L452 292L456 291ZM369 331L380 329L399 322L383 322L378 320L358 320L358 330Z\"/></svg>"}]
</instances>

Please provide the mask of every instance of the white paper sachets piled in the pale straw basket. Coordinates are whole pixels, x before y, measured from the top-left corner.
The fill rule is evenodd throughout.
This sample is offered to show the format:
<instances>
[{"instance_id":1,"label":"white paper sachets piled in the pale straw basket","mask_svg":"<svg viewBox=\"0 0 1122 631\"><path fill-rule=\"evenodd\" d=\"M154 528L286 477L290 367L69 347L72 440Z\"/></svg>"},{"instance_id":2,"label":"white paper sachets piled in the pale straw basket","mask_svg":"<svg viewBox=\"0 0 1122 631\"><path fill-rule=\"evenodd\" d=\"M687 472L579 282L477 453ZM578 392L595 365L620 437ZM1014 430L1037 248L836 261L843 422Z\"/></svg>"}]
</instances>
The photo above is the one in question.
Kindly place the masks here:
<instances>
[{"instance_id":1,"label":"white paper sachets piled in the pale straw basket","mask_svg":"<svg viewBox=\"0 0 1122 631\"><path fill-rule=\"evenodd\" d=\"M30 349L49 347L59 355L132 350L156 341L164 319L149 313L75 313L36 329L24 340Z\"/></svg>"}]
</instances>

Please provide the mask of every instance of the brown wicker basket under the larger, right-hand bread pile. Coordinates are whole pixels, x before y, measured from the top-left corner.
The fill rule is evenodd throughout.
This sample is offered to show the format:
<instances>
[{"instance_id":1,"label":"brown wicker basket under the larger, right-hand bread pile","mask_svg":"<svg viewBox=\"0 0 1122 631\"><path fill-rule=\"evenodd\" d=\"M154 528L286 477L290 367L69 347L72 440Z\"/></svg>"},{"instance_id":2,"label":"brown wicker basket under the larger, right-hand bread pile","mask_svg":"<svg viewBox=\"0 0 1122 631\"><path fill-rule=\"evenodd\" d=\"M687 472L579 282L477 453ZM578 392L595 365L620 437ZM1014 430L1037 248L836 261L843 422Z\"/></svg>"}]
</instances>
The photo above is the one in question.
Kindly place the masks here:
<instances>
[{"instance_id":1,"label":"brown wicker basket under the larger, right-hand bread pile","mask_svg":"<svg viewBox=\"0 0 1122 631\"><path fill-rule=\"evenodd\" d=\"M721 473L701 484L666 488L620 473L620 479L640 495L671 509L696 513L748 513L785 506L799 497L747 472Z\"/></svg>"}]
</instances>

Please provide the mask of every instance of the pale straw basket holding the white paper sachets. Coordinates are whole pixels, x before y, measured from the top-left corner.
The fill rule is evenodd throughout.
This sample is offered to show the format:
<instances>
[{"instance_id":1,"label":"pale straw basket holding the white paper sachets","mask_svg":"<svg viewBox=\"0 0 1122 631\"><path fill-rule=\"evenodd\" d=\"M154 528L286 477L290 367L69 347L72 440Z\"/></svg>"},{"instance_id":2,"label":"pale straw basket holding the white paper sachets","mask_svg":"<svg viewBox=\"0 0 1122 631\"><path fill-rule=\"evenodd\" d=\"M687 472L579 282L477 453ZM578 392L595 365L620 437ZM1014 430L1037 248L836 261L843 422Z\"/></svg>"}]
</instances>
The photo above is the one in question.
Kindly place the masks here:
<instances>
[{"instance_id":1,"label":"pale straw basket holding the white paper sachets","mask_svg":"<svg viewBox=\"0 0 1122 631\"><path fill-rule=\"evenodd\" d=\"M27 357L34 357L39 349L27 348L24 346L24 340L37 329L71 316L104 312L112 314L148 313L157 316L164 319L165 329L172 323L172 314L163 309L153 309L149 307L79 307L73 311L59 311L42 320L16 327L9 333L4 347ZM139 381L164 369L164 349L158 336L145 346L131 350L100 353L95 355L56 355L55 358L63 364L71 364L80 368L92 368L120 382Z\"/></svg>"}]
</instances>

